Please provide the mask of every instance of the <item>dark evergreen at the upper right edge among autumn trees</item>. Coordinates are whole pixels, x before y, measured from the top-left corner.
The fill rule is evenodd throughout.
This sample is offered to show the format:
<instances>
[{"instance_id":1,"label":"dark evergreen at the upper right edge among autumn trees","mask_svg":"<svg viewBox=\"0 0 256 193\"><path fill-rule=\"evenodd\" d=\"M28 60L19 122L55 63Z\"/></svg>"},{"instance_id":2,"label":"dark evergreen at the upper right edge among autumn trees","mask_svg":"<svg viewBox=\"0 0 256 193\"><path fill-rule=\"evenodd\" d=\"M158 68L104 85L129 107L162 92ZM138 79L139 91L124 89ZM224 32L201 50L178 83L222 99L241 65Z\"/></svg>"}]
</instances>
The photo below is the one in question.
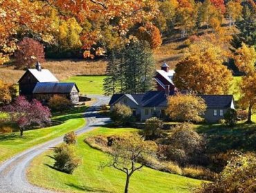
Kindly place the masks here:
<instances>
[{"instance_id":1,"label":"dark evergreen at the upper right edge among autumn trees","mask_svg":"<svg viewBox=\"0 0 256 193\"><path fill-rule=\"evenodd\" d=\"M240 48L241 43L253 45L256 48L256 15L249 4L244 6L241 17L242 19L236 22L237 29L240 32L239 34L233 35L230 44L235 49ZM231 50L235 51L233 49Z\"/></svg>"}]
</instances>

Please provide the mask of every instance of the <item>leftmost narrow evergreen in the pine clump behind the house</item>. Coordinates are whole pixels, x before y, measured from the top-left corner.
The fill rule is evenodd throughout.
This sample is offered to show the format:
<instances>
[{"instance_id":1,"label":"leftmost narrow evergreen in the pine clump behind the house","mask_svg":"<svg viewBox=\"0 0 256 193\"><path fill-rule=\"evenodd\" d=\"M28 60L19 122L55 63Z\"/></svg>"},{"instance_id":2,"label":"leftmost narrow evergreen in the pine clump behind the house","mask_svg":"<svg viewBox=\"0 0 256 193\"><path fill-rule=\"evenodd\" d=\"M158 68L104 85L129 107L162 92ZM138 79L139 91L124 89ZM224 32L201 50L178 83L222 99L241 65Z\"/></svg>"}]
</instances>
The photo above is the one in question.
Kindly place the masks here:
<instances>
[{"instance_id":1,"label":"leftmost narrow evergreen in the pine clump behind the house","mask_svg":"<svg viewBox=\"0 0 256 193\"><path fill-rule=\"evenodd\" d=\"M116 50L111 50L109 63L107 64L107 78L104 79L103 83L105 95L118 92L118 65L119 59L116 57Z\"/></svg>"}]
</instances>

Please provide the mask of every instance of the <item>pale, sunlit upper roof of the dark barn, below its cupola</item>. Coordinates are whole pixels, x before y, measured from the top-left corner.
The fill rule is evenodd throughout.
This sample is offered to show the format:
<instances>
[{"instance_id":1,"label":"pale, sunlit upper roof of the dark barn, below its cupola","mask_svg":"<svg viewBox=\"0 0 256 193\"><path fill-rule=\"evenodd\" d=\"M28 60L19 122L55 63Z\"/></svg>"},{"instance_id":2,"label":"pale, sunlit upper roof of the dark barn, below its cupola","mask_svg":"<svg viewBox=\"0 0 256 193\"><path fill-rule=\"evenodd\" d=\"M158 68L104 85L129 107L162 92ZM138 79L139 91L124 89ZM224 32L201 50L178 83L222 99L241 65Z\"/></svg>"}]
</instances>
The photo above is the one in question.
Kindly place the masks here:
<instances>
[{"instance_id":1,"label":"pale, sunlit upper roof of the dark barn, below its cupola","mask_svg":"<svg viewBox=\"0 0 256 193\"><path fill-rule=\"evenodd\" d=\"M57 82L59 82L59 80L47 69L42 69L41 71L39 71L37 69L28 69L27 72L30 72L33 75L33 77L35 77L35 79L37 79L37 81L39 83L57 83ZM23 77L24 76L22 76L21 79ZM21 79L19 79L19 81L21 81Z\"/></svg>"}]
</instances>

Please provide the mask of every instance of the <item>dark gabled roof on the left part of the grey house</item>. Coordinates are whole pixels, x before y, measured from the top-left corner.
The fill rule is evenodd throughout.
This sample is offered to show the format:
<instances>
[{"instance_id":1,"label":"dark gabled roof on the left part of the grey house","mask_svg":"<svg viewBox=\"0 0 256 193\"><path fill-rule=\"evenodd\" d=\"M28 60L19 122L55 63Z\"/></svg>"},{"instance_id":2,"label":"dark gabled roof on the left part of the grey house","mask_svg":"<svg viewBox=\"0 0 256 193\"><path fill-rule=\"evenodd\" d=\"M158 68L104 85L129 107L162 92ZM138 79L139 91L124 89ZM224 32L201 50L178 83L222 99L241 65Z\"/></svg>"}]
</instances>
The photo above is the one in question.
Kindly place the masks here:
<instances>
[{"instance_id":1,"label":"dark gabled roof on the left part of the grey house","mask_svg":"<svg viewBox=\"0 0 256 193\"><path fill-rule=\"evenodd\" d=\"M127 96L131 101L143 107L165 107L167 99L164 91L149 91L145 94L113 94L109 105L118 102L123 96Z\"/></svg>"}]
</instances>

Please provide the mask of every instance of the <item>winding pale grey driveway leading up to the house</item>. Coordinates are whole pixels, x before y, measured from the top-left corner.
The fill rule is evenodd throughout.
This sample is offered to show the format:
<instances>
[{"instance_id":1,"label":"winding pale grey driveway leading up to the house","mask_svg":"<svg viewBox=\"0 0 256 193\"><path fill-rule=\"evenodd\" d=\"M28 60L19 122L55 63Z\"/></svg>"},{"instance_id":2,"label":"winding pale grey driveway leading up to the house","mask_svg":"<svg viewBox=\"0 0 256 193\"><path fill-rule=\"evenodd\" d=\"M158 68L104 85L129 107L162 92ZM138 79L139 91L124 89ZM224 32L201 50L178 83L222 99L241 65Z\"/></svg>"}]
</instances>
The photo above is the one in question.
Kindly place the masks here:
<instances>
[{"instance_id":1,"label":"winding pale grey driveway leading up to the house","mask_svg":"<svg viewBox=\"0 0 256 193\"><path fill-rule=\"evenodd\" d=\"M97 114L100 105L109 103L109 97L100 95L90 95L91 97L97 99L97 102L89 108L84 116L86 118L86 125L80 128L75 133L82 134L93 130L93 128L98 128L99 125L104 125L109 118L101 117ZM21 152L12 159L1 163L0 165L0 193L43 193L51 192L44 190L41 187L35 187L28 183L26 179L26 169L30 162L35 158L35 156L42 154L42 152L48 150L51 147L61 143L63 141L63 136L53 139L46 143L37 145L29 150Z\"/></svg>"}]
</instances>

